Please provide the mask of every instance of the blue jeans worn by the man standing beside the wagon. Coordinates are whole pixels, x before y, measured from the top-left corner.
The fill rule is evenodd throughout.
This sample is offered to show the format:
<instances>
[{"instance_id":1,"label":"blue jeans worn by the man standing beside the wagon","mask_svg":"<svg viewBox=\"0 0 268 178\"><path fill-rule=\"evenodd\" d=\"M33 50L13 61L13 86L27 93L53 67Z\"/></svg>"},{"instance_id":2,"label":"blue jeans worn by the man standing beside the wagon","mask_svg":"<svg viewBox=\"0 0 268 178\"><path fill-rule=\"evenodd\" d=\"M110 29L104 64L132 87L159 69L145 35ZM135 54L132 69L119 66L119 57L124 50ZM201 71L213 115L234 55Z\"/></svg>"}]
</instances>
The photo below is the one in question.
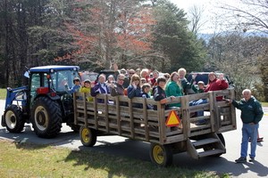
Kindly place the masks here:
<instances>
[{"instance_id":1,"label":"blue jeans worn by the man standing beside the wagon","mask_svg":"<svg viewBox=\"0 0 268 178\"><path fill-rule=\"evenodd\" d=\"M255 149L257 143L257 134L258 134L259 124L251 125L251 124L243 124L242 127L242 142L241 142L241 153L240 156L243 158L247 158L247 146L248 139L251 139L250 143L250 158L255 158Z\"/></svg>"}]
</instances>

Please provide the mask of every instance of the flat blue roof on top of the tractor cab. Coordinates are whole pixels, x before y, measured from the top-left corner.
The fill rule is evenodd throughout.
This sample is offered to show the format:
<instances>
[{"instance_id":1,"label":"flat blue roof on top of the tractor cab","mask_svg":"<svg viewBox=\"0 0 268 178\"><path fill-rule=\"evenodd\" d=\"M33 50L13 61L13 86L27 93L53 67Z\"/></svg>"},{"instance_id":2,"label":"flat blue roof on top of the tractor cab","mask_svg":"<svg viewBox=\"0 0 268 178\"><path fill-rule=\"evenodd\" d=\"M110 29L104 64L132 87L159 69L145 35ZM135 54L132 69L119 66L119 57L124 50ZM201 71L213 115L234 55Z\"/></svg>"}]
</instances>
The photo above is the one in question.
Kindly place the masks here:
<instances>
[{"instance_id":1,"label":"flat blue roof on top of the tractor cab","mask_svg":"<svg viewBox=\"0 0 268 178\"><path fill-rule=\"evenodd\" d=\"M57 66L57 65L52 65L52 66L39 66L39 67L34 67L29 69L30 72L50 72L50 69L54 70L79 70L79 66Z\"/></svg>"}]
</instances>

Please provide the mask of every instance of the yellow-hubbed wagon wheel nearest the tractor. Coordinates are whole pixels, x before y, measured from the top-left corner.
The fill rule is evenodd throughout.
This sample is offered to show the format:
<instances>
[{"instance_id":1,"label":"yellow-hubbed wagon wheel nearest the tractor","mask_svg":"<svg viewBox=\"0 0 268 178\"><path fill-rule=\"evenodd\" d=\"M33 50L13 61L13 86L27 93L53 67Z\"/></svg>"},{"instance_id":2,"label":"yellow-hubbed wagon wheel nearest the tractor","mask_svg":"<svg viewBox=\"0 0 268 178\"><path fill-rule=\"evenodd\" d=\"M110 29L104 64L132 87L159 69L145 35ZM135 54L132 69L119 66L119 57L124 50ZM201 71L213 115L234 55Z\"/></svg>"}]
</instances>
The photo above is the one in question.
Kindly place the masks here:
<instances>
[{"instance_id":1,"label":"yellow-hubbed wagon wheel nearest the tractor","mask_svg":"<svg viewBox=\"0 0 268 178\"><path fill-rule=\"evenodd\" d=\"M81 126L80 141L86 147L93 147L96 144L96 130Z\"/></svg>"}]
</instances>

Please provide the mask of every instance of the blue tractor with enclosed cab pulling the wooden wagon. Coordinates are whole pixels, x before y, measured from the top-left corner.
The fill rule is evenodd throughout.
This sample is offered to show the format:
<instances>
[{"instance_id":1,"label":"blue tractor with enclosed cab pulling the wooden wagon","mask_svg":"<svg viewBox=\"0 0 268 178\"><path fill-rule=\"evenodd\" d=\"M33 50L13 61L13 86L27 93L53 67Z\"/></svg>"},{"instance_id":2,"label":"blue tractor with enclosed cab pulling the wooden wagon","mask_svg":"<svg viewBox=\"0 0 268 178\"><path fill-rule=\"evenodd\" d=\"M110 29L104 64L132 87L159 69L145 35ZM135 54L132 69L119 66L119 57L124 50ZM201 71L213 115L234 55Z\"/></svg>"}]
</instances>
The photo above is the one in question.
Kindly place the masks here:
<instances>
[{"instance_id":1,"label":"blue tractor with enclosed cab pulling the wooden wagon","mask_svg":"<svg viewBox=\"0 0 268 178\"><path fill-rule=\"evenodd\" d=\"M42 138L60 133L63 123L77 131L73 123L73 98L68 86L79 77L78 66L42 66L29 69L24 76L29 85L7 88L1 125L10 133L21 133L25 123Z\"/></svg>"}]
</instances>

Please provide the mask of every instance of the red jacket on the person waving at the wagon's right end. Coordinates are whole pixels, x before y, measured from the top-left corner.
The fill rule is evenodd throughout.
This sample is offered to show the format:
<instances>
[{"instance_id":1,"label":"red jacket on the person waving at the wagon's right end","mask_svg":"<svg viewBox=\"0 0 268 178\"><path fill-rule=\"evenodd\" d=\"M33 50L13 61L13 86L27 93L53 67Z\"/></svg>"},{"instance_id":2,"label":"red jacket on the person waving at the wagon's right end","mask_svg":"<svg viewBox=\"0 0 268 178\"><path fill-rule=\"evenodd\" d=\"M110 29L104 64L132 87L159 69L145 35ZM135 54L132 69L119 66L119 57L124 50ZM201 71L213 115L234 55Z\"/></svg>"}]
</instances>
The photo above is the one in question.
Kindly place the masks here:
<instances>
[{"instance_id":1,"label":"red jacket on the person waving at the wagon's right end","mask_svg":"<svg viewBox=\"0 0 268 178\"><path fill-rule=\"evenodd\" d=\"M228 83L225 80L215 78L214 81L209 81L206 85L205 92L225 90L228 88ZM216 98L217 101L222 101L222 96Z\"/></svg>"}]
</instances>

